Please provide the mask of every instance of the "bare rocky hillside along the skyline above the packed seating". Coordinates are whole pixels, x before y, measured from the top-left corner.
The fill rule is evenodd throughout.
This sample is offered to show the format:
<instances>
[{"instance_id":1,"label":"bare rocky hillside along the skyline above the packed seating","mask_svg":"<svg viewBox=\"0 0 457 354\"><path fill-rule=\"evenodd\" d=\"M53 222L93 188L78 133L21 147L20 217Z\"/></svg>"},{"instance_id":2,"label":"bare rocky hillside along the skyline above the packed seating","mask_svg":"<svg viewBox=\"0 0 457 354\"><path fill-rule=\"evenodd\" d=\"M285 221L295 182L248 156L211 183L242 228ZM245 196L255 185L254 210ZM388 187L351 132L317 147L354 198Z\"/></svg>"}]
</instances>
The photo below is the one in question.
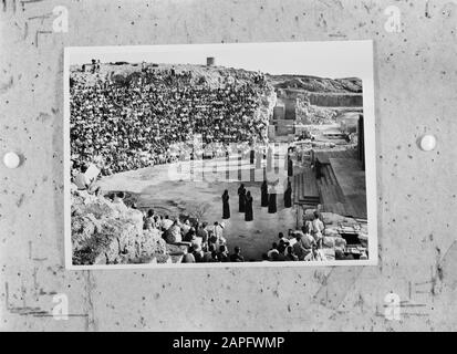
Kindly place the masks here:
<instances>
[{"instance_id":1,"label":"bare rocky hillside along the skyline above the packed seating","mask_svg":"<svg viewBox=\"0 0 457 354\"><path fill-rule=\"evenodd\" d=\"M258 73L243 69L225 66L207 66L195 64L142 64L142 63L105 63L93 74L82 72L80 65L71 66L71 80L84 82L85 85L95 84L97 81L112 81L120 84L137 80L142 72L147 70L166 71L174 70L176 73L191 72L191 84L206 84L212 88L224 86L228 83L237 85L251 84L253 76ZM262 104L256 117L269 119L277 97L297 97L299 116L305 116L308 121L325 117L325 122L332 121L339 111L361 111L363 106L362 80L359 77L328 79L311 75L264 75L271 90L261 96ZM303 114L301 114L303 113ZM315 119L314 119L315 121Z\"/></svg>"}]
</instances>

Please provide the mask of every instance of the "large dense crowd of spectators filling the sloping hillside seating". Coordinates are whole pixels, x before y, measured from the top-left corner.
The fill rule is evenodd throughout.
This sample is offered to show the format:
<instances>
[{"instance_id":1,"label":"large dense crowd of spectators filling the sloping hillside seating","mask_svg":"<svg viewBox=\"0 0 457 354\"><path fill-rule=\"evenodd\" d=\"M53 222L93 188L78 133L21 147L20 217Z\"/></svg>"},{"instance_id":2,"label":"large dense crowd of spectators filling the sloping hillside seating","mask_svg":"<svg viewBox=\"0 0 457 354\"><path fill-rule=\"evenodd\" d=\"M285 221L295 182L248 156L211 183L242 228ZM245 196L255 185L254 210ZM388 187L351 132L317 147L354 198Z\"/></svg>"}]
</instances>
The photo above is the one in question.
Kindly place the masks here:
<instances>
[{"instance_id":1,"label":"large dense crowd of spectators filling the sloping hillside seating","mask_svg":"<svg viewBox=\"0 0 457 354\"><path fill-rule=\"evenodd\" d=\"M204 146L264 142L268 122L256 112L270 87L260 73L242 75L217 87L175 69L136 72L124 82L72 79L72 175L91 163L102 175L170 163L189 156L183 149L195 135Z\"/></svg>"}]
</instances>

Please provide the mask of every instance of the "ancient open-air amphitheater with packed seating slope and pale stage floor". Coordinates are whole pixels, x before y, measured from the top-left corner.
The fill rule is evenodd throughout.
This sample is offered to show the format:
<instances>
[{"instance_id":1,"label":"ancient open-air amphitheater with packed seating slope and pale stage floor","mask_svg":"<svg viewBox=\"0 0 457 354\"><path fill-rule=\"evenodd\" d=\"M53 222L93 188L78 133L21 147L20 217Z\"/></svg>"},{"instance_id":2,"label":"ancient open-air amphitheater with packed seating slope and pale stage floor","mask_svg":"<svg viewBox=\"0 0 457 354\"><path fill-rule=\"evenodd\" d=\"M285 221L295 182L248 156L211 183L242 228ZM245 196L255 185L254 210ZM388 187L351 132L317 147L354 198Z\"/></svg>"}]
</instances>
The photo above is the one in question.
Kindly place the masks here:
<instances>
[{"instance_id":1,"label":"ancient open-air amphitheater with packed seating slope and pale stage floor","mask_svg":"<svg viewBox=\"0 0 457 354\"><path fill-rule=\"evenodd\" d=\"M162 73L177 79L168 82ZM96 185L105 196L127 195L124 210L104 197L73 194L73 252L91 253L85 260L74 258L75 263L179 262L179 244L166 244L157 235L146 240L141 211L221 221L226 189L231 217L224 220L225 237L229 251L240 247L246 260L260 261L279 232L300 228L313 210L322 212L326 236L344 238L355 259L357 249L366 250L360 80L215 65L105 63L93 71L73 66L71 85L72 97L80 97L71 107L72 175L105 157L108 164ZM115 95L105 94L113 87ZM123 98L125 91L132 101ZM238 91L240 97L233 97ZM157 107L149 94L169 104ZM145 112L160 123L147 121ZM128 126L123 123L127 118ZM125 146L116 135L132 138ZM293 176L288 176L288 154ZM278 194L276 214L260 206L263 179ZM292 208L283 201L288 179ZM240 183L253 196L251 222L238 212Z\"/></svg>"}]
</instances>

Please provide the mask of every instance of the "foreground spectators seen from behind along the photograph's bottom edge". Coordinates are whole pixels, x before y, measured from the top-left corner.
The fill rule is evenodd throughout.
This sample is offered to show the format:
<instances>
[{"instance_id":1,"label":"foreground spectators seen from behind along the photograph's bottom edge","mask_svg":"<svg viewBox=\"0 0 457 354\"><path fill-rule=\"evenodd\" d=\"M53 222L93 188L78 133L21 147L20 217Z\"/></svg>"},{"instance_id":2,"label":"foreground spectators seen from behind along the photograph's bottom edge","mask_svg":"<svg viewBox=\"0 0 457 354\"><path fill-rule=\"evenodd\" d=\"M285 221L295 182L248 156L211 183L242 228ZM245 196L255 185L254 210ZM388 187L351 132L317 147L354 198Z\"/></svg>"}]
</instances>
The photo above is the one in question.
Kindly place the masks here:
<instances>
[{"instance_id":1,"label":"foreground spectators seen from behind along the photograph's bottom edge","mask_svg":"<svg viewBox=\"0 0 457 354\"><path fill-rule=\"evenodd\" d=\"M113 196L114 204L124 202L124 192ZM135 205L131 206L136 208ZM183 263L201 262L245 262L253 261L245 259L239 246L229 252L227 239L224 237L225 222L215 221L212 225L196 219L184 219L160 215L153 209L143 211L144 230L158 231L168 244L180 247ZM279 232L278 240L262 254L262 261L325 261L329 260L324 237L325 225L319 211L315 211L312 220L303 223L301 229L289 229L288 235ZM345 254L346 242L339 238L332 249L335 260L351 260L351 254ZM366 256L366 254L365 254ZM362 258L361 258L362 259Z\"/></svg>"}]
</instances>

